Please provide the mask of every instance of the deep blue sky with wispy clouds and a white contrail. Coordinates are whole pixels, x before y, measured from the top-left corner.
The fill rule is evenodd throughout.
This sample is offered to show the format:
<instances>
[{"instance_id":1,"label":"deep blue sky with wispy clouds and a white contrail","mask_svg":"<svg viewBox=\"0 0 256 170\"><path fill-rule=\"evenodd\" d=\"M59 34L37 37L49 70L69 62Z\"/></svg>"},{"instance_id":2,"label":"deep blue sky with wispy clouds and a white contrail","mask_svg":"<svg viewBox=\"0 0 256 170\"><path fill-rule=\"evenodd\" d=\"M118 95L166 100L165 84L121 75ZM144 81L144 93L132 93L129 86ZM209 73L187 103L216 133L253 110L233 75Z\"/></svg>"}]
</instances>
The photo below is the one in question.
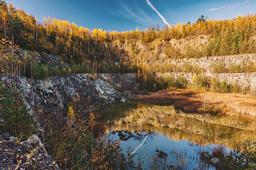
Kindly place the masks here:
<instances>
[{"instance_id":1,"label":"deep blue sky with wispy clouds and a white contrail","mask_svg":"<svg viewBox=\"0 0 256 170\"><path fill-rule=\"evenodd\" d=\"M144 30L208 19L256 14L256 0L6 0L38 18L58 18L93 30Z\"/></svg>"}]
</instances>

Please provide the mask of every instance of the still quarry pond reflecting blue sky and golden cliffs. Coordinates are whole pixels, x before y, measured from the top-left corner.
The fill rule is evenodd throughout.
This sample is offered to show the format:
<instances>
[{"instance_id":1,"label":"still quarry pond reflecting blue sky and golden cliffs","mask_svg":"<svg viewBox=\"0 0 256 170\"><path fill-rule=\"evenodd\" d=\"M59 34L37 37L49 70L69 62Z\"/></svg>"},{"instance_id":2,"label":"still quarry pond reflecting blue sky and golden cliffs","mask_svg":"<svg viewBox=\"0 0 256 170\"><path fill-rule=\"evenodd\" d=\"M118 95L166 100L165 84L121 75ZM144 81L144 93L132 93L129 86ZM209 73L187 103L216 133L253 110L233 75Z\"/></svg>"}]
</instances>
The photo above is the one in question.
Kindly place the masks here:
<instances>
[{"instance_id":1,"label":"still quarry pond reflecting blue sky and golden cliffs","mask_svg":"<svg viewBox=\"0 0 256 170\"><path fill-rule=\"evenodd\" d=\"M254 118L184 113L174 106L120 104L102 119L108 123L106 135L134 153L142 169L215 169L221 160L213 152L228 154L256 141Z\"/></svg>"}]
</instances>

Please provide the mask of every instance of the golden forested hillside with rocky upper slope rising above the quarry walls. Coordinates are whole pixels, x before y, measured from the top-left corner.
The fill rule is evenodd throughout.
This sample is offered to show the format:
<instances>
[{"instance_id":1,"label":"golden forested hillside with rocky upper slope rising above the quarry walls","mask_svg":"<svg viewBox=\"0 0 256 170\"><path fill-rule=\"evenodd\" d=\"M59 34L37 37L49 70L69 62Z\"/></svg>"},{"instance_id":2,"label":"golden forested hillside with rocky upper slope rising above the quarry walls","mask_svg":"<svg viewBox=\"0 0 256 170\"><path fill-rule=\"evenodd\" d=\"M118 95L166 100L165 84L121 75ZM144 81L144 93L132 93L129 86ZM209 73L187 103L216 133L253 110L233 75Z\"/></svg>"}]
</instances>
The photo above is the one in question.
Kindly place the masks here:
<instances>
[{"instance_id":1,"label":"golden forested hillside with rocky upper slope rising above the quarry walls","mask_svg":"<svg viewBox=\"0 0 256 170\"><path fill-rule=\"evenodd\" d=\"M76 73L138 74L138 81L156 90L152 73L202 72L201 68L186 64L178 68L169 64L179 58L199 58L238 55L256 52L256 15L247 14L230 20L206 20L171 25L171 28L149 26L145 30L117 32L90 30L58 18L38 18L0 1L1 69L4 74L45 79ZM185 43L186 42L186 43ZM27 50L21 57L16 50ZM38 63L28 54L43 58ZM59 56L63 62L51 66L44 60L47 54ZM254 72L255 65L235 65L233 72ZM224 69L223 69L224 68ZM223 63L216 72L228 72ZM161 88L160 88L161 89Z\"/></svg>"}]
</instances>

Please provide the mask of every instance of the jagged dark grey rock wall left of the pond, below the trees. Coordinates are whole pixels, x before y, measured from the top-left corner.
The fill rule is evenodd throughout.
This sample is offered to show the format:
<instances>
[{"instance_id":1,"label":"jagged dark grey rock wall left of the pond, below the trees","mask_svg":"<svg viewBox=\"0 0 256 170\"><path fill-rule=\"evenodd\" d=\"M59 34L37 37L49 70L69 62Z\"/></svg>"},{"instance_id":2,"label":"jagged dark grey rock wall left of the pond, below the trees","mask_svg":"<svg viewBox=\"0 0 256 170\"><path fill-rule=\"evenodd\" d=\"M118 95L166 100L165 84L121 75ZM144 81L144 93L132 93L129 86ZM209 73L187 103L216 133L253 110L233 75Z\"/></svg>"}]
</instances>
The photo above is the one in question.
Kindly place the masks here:
<instances>
[{"instance_id":1,"label":"jagged dark grey rock wall left of the pond, below the trees","mask_svg":"<svg viewBox=\"0 0 256 170\"><path fill-rule=\"evenodd\" d=\"M46 114L58 112L70 100L94 111L109 103L127 101L131 98L127 91L137 88L136 74L75 74L43 80L2 76L1 81L7 88L15 82L28 108Z\"/></svg>"}]
</instances>

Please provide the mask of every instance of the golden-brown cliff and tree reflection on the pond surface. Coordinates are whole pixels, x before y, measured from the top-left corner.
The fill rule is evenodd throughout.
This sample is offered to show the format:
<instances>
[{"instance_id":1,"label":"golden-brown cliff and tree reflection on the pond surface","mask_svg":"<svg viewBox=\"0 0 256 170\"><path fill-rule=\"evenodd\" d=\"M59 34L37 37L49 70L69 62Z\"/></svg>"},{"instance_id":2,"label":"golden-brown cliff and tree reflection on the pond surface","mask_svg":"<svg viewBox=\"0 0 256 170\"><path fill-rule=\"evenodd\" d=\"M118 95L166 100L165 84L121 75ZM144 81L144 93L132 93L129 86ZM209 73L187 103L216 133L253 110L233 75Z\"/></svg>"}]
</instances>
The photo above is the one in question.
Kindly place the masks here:
<instances>
[{"instance_id":1,"label":"golden-brown cliff and tree reflection on the pond surface","mask_svg":"<svg viewBox=\"0 0 256 170\"><path fill-rule=\"evenodd\" d=\"M245 140L256 141L254 122L238 116L183 113L173 106L136 103L114 106L102 114L109 130L161 133L169 140L199 145L225 145L233 149ZM108 130L108 131L109 131Z\"/></svg>"}]
</instances>

